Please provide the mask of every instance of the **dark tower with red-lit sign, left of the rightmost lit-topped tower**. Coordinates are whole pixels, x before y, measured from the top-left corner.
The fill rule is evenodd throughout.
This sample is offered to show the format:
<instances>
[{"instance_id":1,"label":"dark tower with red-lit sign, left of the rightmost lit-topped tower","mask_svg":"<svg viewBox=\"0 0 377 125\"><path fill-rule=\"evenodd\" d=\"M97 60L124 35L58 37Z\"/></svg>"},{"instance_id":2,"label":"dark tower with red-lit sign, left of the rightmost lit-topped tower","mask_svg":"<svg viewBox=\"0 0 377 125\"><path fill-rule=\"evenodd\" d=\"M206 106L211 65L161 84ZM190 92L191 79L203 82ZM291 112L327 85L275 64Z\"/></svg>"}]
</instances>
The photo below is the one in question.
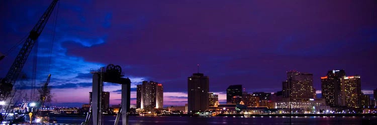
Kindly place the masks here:
<instances>
[{"instance_id":1,"label":"dark tower with red-lit sign, left of the rightmost lit-topped tower","mask_svg":"<svg viewBox=\"0 0 377 125\"><path fill-rule=\"evenodd\" d=\"M322 98L326 100L327 105L341 105L340 79L344 76L344 70L329 70L326 76L321 77Z\"/></svg>"}]
</instances>

